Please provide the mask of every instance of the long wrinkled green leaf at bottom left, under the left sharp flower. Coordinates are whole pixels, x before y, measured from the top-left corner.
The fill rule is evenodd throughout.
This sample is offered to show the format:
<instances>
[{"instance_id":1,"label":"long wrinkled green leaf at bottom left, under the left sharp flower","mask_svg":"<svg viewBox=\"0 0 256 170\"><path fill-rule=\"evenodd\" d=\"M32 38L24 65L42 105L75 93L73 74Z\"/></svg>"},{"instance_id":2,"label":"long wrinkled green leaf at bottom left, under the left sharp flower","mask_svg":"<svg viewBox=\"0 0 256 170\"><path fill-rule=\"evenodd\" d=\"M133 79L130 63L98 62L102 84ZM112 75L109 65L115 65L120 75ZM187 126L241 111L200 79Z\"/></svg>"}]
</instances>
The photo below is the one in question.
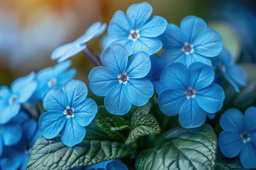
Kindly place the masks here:
<instances>
[{"instance_id":1,"label":"long wrinkled green leaf at bottom left, under the left sharp flower","mask_svg":"<svg viewBox=\"0 0 256 170\"><path fill-rule=\"evenodd\" d=\"M69 170L118 159L130 153L129 146L110 141L83 140L74 147L67 147L60 136L53 140L40 137L33 147L26 170Z\"/></svg>"}]
</instances>

